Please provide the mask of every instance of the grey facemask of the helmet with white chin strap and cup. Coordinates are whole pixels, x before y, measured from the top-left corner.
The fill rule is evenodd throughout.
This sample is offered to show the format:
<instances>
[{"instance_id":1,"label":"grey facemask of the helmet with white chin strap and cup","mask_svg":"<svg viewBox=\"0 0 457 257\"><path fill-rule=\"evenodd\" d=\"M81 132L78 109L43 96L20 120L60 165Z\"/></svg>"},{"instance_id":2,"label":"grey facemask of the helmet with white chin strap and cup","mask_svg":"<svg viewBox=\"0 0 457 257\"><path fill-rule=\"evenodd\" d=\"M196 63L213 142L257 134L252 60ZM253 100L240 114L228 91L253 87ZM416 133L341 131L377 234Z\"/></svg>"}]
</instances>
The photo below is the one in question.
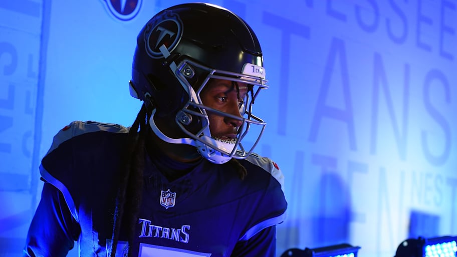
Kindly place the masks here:
<instances>
[{"instance_id":1,"label":"grey facemask of the helmet with white chin strap and cup","mask_svg":"<svg viewBox=\"0 0 457 257\"><path fill-rule=\"evenodd\" d=\"M244 69L246 74L242 74L211 69L187 59L181 61L175 66L176 69L174 71L174 75L187 92L188 99L181 110L176 113L175 122L189 138L170 138L166 136L155 125L153 120L155 111L152 113L150 118L152 130L157 134L157 136L159 136L159 138L168 143L189 144L195 146L204 158L213 163L225 163L231 158L246 158L254 150L266 126L266 123L262 119L252 113L253 104L260 90L268 88L266 85L267 81L264 78L249 74L248 71L253 69L255 65L248 65L249 67ZM170 65L171 69L172 67L174 68L174 65ZM262 73L265 74L262 67L255 67L255 69L259 68L261 68ZM206 75L201 75L202 73ZM189 82L189 80L192 80L194 76L202 78L201 82L198 83L199 85L192 86ZM244 98L244 104L240 107L240 114L242 117L210 108L202 103L200 93L205 89L205 86L211 79L229 80L233 83L245 83L249 85L248 93ZM209 128L208 112L241 121L241 126L238 127L236 138L233 140L224 140L213 137ZM197 121L195 121L195 119ZM199 126L195 128L195 126L191 125L192 123L197 123ZM258 127L256 130L258 131L258 135L254 140L254 143L252 143L248 149L245 148L242 140L248 135L248 132L254 125Z\"/></svg>"}]
</instances>

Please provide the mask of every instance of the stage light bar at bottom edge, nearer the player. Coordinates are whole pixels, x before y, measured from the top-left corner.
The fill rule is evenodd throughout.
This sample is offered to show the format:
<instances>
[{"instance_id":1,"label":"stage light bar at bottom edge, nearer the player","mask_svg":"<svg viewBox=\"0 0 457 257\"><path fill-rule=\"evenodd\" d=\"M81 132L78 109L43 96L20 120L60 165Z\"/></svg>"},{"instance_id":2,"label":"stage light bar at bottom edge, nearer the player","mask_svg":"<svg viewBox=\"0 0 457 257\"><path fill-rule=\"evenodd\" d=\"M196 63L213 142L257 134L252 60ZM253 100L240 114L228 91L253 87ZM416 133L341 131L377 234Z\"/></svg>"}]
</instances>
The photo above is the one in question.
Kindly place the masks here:
<instances>
[{"instance_id":1,"label":"stage light bar at bottom edge, nearer the player","mask_svg":"<svg viewBox=\"0 0 457 257\"><path fill-rule=\"evenodd\" d=\"M290 248L281 254L281 257L357 257L359 246L352 246L348 243L335 244L325 247L304 250Z\"/></svg>"}]
</instances>

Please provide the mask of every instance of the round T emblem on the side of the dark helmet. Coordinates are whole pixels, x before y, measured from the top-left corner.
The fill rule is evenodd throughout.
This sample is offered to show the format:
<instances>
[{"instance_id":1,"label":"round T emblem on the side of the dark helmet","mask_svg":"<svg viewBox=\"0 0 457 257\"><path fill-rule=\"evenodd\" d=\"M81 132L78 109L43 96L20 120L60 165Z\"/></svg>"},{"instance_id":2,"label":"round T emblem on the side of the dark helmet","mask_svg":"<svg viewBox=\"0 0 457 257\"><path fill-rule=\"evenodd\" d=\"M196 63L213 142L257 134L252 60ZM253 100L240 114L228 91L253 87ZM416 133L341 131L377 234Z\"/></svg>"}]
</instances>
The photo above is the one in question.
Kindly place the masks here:
<instances>
[{"instance_id":1,"label":"round T emblem on the side of the dark helmet","mask_svg":"<svg viewBox=\"0 0 457 257\"><path fill-rule=\"evenodd\" d=\"M165 12L162 19L152 20L144 33L146 53L151 58L162 58L160 47L172 52L182 37L182 22L176 14Z\"/></svg>"}]
</instances>

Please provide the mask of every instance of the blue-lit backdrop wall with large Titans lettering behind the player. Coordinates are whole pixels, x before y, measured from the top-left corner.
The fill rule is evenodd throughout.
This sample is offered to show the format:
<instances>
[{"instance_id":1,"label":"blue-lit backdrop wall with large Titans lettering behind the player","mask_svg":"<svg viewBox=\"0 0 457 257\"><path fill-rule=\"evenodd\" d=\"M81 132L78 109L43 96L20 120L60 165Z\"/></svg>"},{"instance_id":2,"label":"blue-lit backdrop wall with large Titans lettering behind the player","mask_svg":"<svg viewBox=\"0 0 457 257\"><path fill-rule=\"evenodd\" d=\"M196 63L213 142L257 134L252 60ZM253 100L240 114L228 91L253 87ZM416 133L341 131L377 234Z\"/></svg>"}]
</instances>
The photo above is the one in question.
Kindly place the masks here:
<instances>
[{"instance_id":1,"label":"blue-lit backdrop wall with large Titans lettering behind the player","mask_svg":"<svg viewBox=\"0 0 457 257\"><path fill-rule=\"evenodd\" d=\"M185 1L123 2L0 2L0 256L21 254L54 134L133 122L136 35ZM263 46L257 152L285 173L289 201L278 255L349 242L393 256L405 238L457 234L457 1L209 2Z\"/></svg>"}]
</instances>

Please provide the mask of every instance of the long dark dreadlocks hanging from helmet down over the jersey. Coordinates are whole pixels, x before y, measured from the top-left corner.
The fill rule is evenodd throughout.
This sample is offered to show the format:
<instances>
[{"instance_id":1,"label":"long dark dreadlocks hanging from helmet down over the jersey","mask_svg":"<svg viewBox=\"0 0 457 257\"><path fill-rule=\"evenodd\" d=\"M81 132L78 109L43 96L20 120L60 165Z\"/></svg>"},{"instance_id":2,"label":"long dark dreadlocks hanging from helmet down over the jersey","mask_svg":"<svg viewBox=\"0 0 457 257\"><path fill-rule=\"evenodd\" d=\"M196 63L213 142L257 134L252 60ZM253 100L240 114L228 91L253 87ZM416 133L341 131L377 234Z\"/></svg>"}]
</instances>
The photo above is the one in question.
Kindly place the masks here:
<instances>
[{"instance_id":1,"label":"long dark dreadlocks hanging from helmet down over the jersey","mask_svg":"<svg viewBox=\"0 0 457 257\"><path fill-rule=\"evenodd\" d=\"M147 108L143 104L129 129L127 149L122 160L123 176L121 176L115 201L113 232L110 243L110 256L113 257L116 254L121 230L128 235L128 247L132 245L135 236L136 220L143 190L144 142L147 133L147 119ZM126 225L122 226L122 224ZM121 229L122 227L124 229ZM128 251L128 256L131 256L131 251Z\"/></svg>"}]
</instances>

